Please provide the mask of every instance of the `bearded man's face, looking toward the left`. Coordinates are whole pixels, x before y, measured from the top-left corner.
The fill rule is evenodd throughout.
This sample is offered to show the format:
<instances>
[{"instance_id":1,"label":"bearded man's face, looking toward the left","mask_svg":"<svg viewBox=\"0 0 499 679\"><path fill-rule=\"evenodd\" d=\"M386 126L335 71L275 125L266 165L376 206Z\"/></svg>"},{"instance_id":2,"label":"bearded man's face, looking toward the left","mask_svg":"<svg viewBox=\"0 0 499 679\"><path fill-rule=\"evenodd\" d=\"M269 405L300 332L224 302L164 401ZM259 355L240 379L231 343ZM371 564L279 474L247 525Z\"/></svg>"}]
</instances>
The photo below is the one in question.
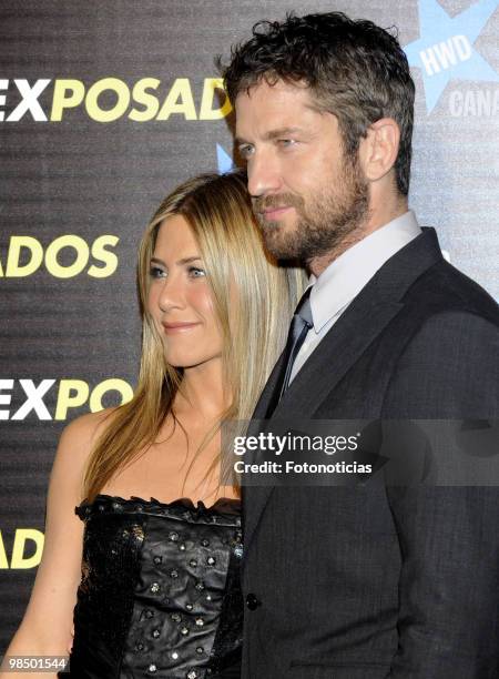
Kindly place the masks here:
<instances>
[{"instance_id":1,"label":"bearded man's face, looking toward the left","mask_svg":"<svg viewBox=\"0 0 499 679\"><path fill-rule=\"evenodd\" d=\"M282 80L242 91L235 109L268 250L310 263L348 242L366 219L368 186L357 159L345 159L336 116L314 107L308 88Z\"/></svg>"}]
</instances>

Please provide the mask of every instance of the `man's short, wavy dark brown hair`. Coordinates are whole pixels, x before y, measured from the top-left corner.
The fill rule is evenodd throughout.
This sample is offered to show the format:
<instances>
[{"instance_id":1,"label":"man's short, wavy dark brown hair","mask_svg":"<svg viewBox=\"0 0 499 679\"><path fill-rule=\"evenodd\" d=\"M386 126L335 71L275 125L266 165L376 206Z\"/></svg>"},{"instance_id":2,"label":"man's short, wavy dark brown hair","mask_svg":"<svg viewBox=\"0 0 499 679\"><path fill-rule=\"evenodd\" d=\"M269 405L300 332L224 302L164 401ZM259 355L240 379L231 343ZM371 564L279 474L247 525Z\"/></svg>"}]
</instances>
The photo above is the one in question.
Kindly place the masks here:
<instances>
[{"instance_id":1,"label":"man's short, wavy dark brown hair","mask_svg":"<svg viewBox=\"0 0 499 679\"><path fill-rule=\"evenodd\" d=\"M397 38L371 21L342 12L258 21L253 37L218 65L232 102L264 78L306 83L317 108L334 113L345 153L353 156L371 123L393 118L400 129L397 188L409 190L415 85Z\"/></svg>"}]
</instances>

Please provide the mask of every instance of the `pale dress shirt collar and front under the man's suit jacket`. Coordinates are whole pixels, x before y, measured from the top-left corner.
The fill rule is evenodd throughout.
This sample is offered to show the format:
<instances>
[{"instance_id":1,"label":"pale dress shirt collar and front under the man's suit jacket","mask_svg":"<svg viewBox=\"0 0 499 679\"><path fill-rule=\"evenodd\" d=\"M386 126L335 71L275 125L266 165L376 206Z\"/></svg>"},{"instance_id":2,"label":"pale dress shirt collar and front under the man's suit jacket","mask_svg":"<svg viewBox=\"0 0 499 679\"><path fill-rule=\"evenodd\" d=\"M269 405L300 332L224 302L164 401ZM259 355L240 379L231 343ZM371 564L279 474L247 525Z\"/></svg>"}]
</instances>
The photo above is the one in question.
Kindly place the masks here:
<instances>
[{"instance_id":1,"label":"pale dress shirt collar and front under the man's suit jacket","mask_svg":"<svg viewBox=\"0 0 499 679\"><path fill-rule=\"evenodd\" d=\"M413 211L388 222L345 251L316 278L312 285L310 307L314 327L296 356L289 383L333 327L343 312L396 252L421 233Z\"/></svg>"}]
</instances>

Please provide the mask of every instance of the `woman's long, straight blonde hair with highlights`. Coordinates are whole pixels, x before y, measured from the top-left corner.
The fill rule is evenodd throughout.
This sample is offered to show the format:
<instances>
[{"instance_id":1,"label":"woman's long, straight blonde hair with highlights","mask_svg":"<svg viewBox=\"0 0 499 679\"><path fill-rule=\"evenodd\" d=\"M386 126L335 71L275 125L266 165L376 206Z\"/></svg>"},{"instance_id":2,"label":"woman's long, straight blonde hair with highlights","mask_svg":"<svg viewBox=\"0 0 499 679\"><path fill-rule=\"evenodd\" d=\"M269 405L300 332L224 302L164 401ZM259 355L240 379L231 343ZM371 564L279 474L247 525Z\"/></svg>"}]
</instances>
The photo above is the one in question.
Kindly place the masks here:
<instances>
[{"instance_id":1,"label":"woman's long, straight blonde hair with highlights","mask_svg":"<svg viewBox=\"0 0 499 679\"><path fill-rule=\"evenodd\" d=\"M222 330L224 387L231 403L221 419L251 418L304 288L302 270L277 266L265 251L242 171L203 174L173 191L152 217L140 245L139 383L132 401L112 413L91 453L83 478L83 497L90 501L155 442L166 416L175 416L173 402L181 388L182 369L166 363L162 340L147 312L149 272L157 232L173 215L182 215L192 227ZM236 291L232 305L231 282Z\"/></svg>"}]
</instances>

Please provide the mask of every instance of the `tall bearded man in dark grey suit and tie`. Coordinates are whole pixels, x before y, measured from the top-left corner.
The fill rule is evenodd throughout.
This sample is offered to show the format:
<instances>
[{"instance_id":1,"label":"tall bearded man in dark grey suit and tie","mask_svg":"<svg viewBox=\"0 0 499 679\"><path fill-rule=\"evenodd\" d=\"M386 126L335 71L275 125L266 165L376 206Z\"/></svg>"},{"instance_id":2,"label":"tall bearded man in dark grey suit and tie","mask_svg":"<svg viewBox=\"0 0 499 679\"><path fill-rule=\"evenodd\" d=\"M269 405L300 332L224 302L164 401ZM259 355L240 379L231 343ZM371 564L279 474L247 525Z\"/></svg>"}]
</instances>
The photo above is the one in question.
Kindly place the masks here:
<instances>
[{"instance_id":1,"label":"tall bearded man in dark grey suit and tie","mask_svg":"<svg viewBox=\"0 0 499 679\"><path fill-rule=\"evenodd\" d=\"M408 211L397 40L292 16L256 24L224 77L266 244L312 274L254 417L497 417L497 305ZM499 676L497 488L378 478L243 489L244 679Z\"/></svg>"}]
</instances>

